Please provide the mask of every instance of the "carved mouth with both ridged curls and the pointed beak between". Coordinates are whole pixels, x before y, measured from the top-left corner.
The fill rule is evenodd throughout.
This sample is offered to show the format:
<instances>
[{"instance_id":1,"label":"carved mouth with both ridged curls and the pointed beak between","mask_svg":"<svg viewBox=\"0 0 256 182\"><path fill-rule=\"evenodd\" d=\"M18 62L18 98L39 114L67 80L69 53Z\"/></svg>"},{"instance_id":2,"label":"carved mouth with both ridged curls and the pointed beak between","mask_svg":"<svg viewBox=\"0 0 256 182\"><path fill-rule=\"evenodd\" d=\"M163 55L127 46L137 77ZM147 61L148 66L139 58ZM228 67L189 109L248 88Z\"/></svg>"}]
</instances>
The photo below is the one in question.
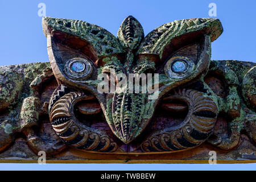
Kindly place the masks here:
<instances>
[{"instance_id":1,"label":"carved mouth with both ridged curls and the pointed beak between","mask_svg":"<svg viewBox=\"0 0 256 182\"><path fill-rule=\"evenodd\" d=\"M111 98L104 106L92 94L65 94L53 102L53 129L81 150L172 152L204 142L217 116L214 101L197 90L172 92L155 109L146 94L115 93Z\"/></svg>"}]
</instances>

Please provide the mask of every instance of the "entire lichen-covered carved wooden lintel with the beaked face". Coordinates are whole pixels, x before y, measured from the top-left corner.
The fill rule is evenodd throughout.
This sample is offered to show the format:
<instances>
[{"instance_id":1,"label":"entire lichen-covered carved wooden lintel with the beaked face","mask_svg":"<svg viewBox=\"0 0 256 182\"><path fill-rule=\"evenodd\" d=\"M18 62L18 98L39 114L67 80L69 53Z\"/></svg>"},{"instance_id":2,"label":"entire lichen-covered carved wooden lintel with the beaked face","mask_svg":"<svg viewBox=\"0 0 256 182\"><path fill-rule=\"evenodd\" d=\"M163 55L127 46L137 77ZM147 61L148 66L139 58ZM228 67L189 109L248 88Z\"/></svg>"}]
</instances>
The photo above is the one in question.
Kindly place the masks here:
<instances>
[{"instance_id":1,"label":"entire lichen-covered carved wooden lintel with the beaked face","mask_svg":"<svg viewBox=\"0 0 256 182\"><path fill-rule=\"evenodd\" d=\"M176 20L144 37L129 16L116 38L47 17L43 31L50 64L0 67L0 158L24 144L24 158L203 160L216 150L222 160L256 159L256 64L210 61L220 20ZM118 74L158 75L158 96L130 85L102 93L103 73L114 88L129 82Z\"/></svg>"}]
</instances>

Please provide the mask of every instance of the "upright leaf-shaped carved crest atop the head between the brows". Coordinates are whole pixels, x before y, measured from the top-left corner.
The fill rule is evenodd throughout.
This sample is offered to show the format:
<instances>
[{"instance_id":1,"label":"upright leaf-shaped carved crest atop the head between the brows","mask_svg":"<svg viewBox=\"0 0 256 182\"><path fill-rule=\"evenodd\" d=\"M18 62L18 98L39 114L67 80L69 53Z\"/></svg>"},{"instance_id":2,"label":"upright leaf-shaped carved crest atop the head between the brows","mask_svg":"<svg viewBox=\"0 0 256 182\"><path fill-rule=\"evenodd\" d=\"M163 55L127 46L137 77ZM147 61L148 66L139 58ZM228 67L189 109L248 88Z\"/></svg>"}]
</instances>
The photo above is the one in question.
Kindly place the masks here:
<instances>
[{"instance_id":1,"label":"upright leaf-shaped carved crest atop the head between the brows","mask_svg":"<svg viewBox=\"0 0 256 182\"><path fill-rule=\"evenodd\" d=\"M136 49L144 38L143 28L133 16L123 20L117 35L123 48Z\"/></svg>"}]
</instances>

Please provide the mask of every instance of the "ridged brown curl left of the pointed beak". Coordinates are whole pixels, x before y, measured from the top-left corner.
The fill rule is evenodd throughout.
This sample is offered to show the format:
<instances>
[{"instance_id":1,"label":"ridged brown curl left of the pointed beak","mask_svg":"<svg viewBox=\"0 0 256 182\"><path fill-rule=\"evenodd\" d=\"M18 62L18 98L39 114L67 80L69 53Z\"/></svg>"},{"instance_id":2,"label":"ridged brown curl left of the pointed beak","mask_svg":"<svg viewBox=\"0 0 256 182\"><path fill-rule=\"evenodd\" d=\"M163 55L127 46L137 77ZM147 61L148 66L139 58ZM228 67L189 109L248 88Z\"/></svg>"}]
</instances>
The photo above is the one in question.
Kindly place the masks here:
<instances>
[{"instance_id":1,"label":"ridged brown curl left of the pointed beak","mask_svg":"<svg viewBox=\"0 0 256 182\"><path fill-rule=\"evenodd\" d=\"M52 106L49 117L53 130L69 146L86 151L114 152L117 144L101 131L84 126L73 113L77 102L87 96L79 92L65 94Z\"/></svg>"}]
</instances>

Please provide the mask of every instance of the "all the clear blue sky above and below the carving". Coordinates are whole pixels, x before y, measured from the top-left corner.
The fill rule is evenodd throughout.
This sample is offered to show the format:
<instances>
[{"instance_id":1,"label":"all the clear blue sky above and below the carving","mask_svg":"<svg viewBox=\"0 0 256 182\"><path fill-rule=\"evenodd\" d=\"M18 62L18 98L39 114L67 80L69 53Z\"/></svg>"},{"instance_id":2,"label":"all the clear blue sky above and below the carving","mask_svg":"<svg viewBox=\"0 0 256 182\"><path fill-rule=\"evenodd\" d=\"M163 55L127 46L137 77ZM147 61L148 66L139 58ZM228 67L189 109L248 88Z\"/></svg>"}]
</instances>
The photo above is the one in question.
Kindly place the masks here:
<instances>
[{"instance_id":1,"label":"all the clear blue sky above and below the carving","mask_svg":"<svg viewBox=\"0 0 256 182\"><path fill-rule=\"evenodd\" d=\"M46 4L46 16L80 19L97 24L117 35L128 15L141 22L144 34L176 19L210 18L209 3L216 3L224 32L212 43L213 60L256 62L256 1L48 1L0 0L0 65L48 61L47 42L42 31L38 4ZM256 169L255 164L0 164L0 169ZM108 166L109 165L109 166Z\"/></svg>"}]
</instances>

